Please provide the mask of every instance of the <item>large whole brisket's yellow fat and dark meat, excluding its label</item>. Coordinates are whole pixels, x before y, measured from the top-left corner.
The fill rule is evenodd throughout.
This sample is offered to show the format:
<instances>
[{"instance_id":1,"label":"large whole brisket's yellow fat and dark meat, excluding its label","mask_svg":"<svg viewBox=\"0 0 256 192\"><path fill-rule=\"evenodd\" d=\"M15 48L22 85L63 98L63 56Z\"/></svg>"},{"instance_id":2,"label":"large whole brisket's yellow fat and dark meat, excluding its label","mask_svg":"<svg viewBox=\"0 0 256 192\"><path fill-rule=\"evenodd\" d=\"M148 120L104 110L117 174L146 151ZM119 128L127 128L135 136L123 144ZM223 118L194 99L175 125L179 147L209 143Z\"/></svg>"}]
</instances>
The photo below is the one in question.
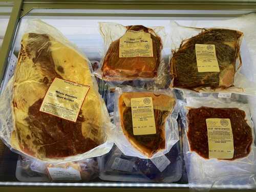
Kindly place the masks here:
<instances>
[{"instance_id":1,"label":"large whole brisket's yellow fat and dark meat, excluding its label","mask_svg":"<svg viewBox=\"0 0 256 192\"><path fill-rule=\"evenodd\" d=\"M13 83L12 145L41 160L85 153L102 144L103 101L87 60L47 34L22 38ZM76 122L39 111L55 77L90 86Z\"/></svg>"}]
</instances>

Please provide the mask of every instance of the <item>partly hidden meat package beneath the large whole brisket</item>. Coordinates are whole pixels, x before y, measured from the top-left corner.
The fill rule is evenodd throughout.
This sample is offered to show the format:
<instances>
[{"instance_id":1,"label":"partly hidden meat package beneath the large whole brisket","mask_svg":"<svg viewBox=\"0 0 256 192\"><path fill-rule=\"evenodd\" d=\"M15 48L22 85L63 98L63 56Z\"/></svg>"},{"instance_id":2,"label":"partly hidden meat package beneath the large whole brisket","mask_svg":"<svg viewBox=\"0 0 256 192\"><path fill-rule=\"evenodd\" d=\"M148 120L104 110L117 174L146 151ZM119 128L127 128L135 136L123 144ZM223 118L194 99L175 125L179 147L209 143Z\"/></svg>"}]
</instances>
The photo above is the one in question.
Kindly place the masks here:
<instances>
[{"instance_id":1,"label":"partly hidden meat package beneath the large whole brisket","mask_svg":"<svg viewBox=\"0 0 256 192\"><path fill-rule=\"evenodd\" d=\"M19 156L16 178L23 182L91 181L99 176L96 158L50 164Z\"/></svg>"}]
</instances>

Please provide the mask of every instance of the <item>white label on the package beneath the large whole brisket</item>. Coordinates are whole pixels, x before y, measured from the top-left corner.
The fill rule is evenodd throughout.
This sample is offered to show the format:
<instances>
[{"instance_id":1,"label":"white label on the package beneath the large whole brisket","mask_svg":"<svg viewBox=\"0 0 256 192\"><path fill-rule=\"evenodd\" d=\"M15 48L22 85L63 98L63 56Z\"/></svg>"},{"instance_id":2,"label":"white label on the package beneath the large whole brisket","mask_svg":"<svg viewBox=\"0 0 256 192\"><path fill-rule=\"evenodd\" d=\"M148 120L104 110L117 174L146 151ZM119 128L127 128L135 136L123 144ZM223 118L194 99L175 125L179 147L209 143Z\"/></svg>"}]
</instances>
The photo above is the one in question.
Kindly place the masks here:
<instances>
[{"instance_id":1,"label":"white label on the package beneath the large whole brisket","mask_svg":"<svg viewBox=\"0 0 256 192\"><path fill-rule=\"evenodd\" d=\"M80 172L73 167L48 167L52 180L62 181L79 181L81 180Z\"/></svg>"}]
</instances>

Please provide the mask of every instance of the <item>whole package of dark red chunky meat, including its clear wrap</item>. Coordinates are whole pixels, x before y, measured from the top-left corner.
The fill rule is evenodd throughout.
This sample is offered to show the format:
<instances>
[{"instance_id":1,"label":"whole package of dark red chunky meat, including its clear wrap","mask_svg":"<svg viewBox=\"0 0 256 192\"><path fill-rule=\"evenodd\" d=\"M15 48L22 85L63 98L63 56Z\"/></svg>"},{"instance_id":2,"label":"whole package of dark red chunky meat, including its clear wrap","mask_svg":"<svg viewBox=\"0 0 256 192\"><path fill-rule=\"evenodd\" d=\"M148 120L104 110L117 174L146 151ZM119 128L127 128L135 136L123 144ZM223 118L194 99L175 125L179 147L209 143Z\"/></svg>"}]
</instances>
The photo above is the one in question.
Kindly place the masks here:
<instances>
[{"instance_id":1,"label":"whole package of dark red chunky meat, including its clear wrap","mask_svg":"<svg viewBox=\"0 0 256 192\"><path fill-rule=\"evenodd\" d=\"M210 96L188 97L178 103L190 187L254 186L256 147L249 105Z\"/></svg>"}]
</instances>

